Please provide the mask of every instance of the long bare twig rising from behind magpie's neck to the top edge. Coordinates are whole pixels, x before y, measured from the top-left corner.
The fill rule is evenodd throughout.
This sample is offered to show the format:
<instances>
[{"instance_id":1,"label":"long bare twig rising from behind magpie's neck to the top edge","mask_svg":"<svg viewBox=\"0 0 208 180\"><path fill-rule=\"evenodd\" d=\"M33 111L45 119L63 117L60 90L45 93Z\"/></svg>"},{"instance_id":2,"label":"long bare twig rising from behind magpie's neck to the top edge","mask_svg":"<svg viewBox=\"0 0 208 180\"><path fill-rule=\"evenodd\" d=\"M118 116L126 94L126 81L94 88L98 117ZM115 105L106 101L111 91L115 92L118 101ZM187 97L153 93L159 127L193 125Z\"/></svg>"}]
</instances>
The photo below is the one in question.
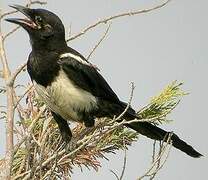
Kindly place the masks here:
<instances>
[{"instance_id":1,"label":"long bare twig rising from behind magpie's neck to the top edge","mask_svg":"<svg viewBox=\"0 0 208 180\"><path fill-rule=\"evenodd\" d=\"M118 19L118 18L121 18L121 17L125 17L125 16L133 16L133 15L138 15L138 14L143 14L143 13L151 12L151 11L154 11L156 9L162 8L163 6L165 6L166 4L168 4L170 1L171 0L165 1L164 3L162 3L160 5L157 5L157 6L154 6L152 8L142 9L142 10L136 10L136 11L130 11L130 12L125 12L125 13L121 13L121 14L117 14L117 15L114 15L114 16L110 16L110 17L101 19L101 20L95 22L94 24L91 24L91 25L87 26L86 28L84 28L78 34L75 34L75 35L69 37L67 39L67 42L68 41L71 41L71 40L74 40L74 39L76 39L76 38L84 35L86 32L88 32L89 30L92 30L93 28L95 28L98 25L106 24L109 21L112 21L112 20L115 20L115 19Z\"/></svg>"}]
</instances>

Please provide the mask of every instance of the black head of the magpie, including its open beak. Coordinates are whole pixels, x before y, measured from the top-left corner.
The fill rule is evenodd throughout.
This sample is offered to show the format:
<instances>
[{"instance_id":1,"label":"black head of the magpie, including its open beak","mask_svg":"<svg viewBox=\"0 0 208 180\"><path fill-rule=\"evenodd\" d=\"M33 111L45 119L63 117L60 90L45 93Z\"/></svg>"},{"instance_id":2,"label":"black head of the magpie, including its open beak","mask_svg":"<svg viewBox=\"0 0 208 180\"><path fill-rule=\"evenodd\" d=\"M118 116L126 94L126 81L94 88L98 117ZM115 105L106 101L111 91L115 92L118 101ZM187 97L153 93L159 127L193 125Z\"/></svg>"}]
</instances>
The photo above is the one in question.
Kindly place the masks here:
<instances>
[{"instance_id":1,"label":"black head of the magpie, including its open beak","mask_svg":"<svg viewBox=\"0 0 208 180\"><path fill-rule=\"evenodd\" d=\"M33 48L55 48L65 44L64 25L57 15L45 9L30 9L20 5L12 8L23 13L26 18L9 18L6 21L22 26L30 36Z\"/></svg>"}]
</instances>

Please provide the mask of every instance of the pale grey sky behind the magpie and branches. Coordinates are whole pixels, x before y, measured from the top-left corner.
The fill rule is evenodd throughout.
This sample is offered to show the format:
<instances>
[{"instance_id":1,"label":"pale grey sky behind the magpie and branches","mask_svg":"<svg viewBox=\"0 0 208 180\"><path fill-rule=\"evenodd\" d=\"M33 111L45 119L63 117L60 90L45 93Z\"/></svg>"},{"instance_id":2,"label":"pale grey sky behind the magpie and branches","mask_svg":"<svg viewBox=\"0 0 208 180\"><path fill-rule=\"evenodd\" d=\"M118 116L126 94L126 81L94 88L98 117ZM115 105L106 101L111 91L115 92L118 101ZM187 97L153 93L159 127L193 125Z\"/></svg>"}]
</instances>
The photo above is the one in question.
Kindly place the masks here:
<instances>
[{"instance_id":1,"label":"pale grey sky behind the magpie and branches","mask_svg":"<svg viewBox=\"0 0 208 180\"><path fill-rule=\"evenodd\" d=\"M106 16L131 9L150 7L161 1L153 0L49 0L45 7L63 20L72 33L80 31ZM25 4L21 0L0 0L0 7L8 4ZM118 96L127 101L130 82L136 85L133 107L145 105L173 80L183 81L184 90L190 94L170 116L174 122L164 125L205 155L194 159L172 148L168 162L159 172L157 180L208 179L208 1L172 0L166 7L151 13L127 17L113 22L110 33L92 56L103 76ZM4 28L13 27L4 23ZM100 26L69 45L87 56L105 31ZM8 58L13 68L26 61L30 52L26 32L19 30L6 44ZM26 82L26 78L20 79ZM4 123L0 122L0 157L4 153ZM140 138L127 151L125 180L141 176L151 160L152 140ZM123 152L107 155L110 161L102 161L99 172L74 170L75 180L114 180L109 169L121 171Z\"/></svg>"}]
</instances>

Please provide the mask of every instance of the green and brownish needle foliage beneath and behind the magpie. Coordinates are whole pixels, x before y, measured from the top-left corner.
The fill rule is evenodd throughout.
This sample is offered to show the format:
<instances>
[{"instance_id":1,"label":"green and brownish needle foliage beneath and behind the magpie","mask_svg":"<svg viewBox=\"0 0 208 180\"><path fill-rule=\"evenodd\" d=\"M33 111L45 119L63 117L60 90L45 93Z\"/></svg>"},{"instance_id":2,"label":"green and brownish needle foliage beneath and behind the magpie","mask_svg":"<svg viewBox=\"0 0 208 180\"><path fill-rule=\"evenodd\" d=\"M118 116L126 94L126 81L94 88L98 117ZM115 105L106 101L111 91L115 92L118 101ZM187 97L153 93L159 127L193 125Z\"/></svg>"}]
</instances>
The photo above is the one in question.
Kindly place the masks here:
<instances>
[{"instance_id":1,"label":"green and brownish needle foliage beneath and behind the magpie","mask_svg":"<svg viewBox=\"0 0 208 180\"><path fill-rule=\"evenodd\" d=\"M138 111L140 119L155 124L166 122L167 115L186 95L181 85L174 81L153 97ZM78 146L72 152L66 152L57 124L33 90L28 93L22 112L22 119L17 122L18 131L15 131L18 142L14 152L13 179L67 178L74 166L98 171L100 158L107 159L107 153L127 149L138 139L136 132L122 125L113 126L117 122L112 119L101 118L96 120L96 127L86 132L84 138L80 138L84 127L78 124L73 129Z\"/></svg>"}]
</instances>

